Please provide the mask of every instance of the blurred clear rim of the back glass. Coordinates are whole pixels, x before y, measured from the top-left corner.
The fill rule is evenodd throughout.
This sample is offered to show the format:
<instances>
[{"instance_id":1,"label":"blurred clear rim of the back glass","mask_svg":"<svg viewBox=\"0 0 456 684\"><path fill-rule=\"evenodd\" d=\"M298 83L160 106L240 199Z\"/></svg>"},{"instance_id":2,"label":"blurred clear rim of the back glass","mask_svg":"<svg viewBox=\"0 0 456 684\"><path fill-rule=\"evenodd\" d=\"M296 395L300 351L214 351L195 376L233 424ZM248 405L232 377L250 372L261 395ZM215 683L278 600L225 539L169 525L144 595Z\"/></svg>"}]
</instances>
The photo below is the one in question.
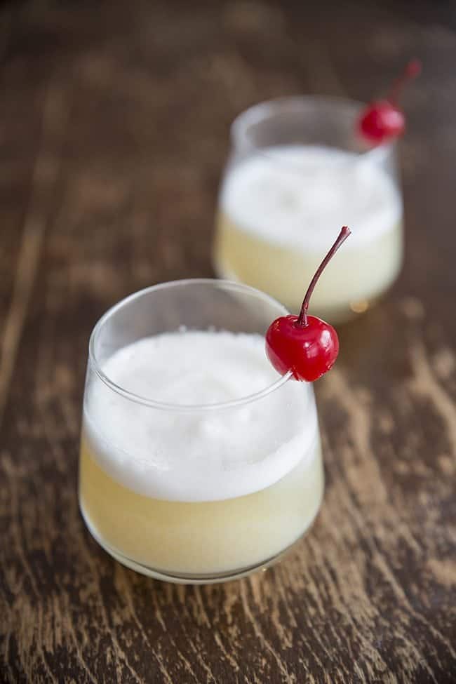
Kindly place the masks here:
<instances>
[{"instance_id":1,"label":"blurred clear rim of the back glass","mask_svg":"<svg viewBox=\"0 0 456 684\"><path fill-rule=\"evenodd\" d=\"M289 107L291 110L295 108L299 109L303 106L308 107L312 104L319 105L320 107L334 107L335 104L338 104L344 105L345 107L351 107L354 111L366 107L366 102L347 98L344 95L284 95L279 98L271 98L271 100L262 100L262 102L257 102L255 105L247 107L247 109L244 109L243 112L240 112L235 117L229 128L230 140L232 140L234 145L237 145L239 142L247 142L256 152L262 152L262 149L264 150L266 148L255 145L247 135L249 126L253 126L255 123L259 123L269 116L274 116L278 107ZM384 156L391 154L395 147L396 140L393 139L382 142L375 147L370 147L363 152L354 152L353 154L356 154L360 161L361 159L375 159L376 157L382 159ZM263 152L262 154L267 156L266 152Z\"/></svg>"}]
</instances>

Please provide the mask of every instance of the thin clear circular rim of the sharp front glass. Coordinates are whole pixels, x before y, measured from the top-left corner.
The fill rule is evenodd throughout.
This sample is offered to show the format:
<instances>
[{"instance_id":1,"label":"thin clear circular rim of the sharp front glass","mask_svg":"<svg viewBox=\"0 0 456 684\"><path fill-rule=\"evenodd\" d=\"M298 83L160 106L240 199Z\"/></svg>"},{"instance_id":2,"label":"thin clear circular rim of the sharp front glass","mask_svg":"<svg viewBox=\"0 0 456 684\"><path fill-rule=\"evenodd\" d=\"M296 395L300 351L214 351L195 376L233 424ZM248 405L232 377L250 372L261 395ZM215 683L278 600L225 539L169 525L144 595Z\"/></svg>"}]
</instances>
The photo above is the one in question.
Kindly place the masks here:
<instances>
[{"instance_id":1,"label":"thin clear circular rim of the sharp front glass","mask_svg":"<svg viewBox=\"0 0 456 684\"><path fill-rule=\"evenodd\" d=\"M270 302L274 306L278 307L282 311L282 315L287 315L289 314L289 311L286 309L286 307L283 306L280 302L274 299L274 297L271 297L270 295L267 295L266 293L262 292L261 290L257 290L256 288L252 288L248 285L244 285L243 283L236 283L235 281L229 281L229 280L223 280L223 279L215 279L215 278L187 278L187 279L178 279L174 281L167 281L166 283L156 283L156 285L149 286L147 288L142 288L142 290L137 290L136 292L127 295L126 297L123 297L123 299L119 300L119 302L116 302L116 304L113 304L112 307L109 307L107 311L105 311L100 318L98 318L98 321L95 323L95 326L93 326L93 330L90 333L90 338L88 341L88 360L90 362L90 366L93 368L95 374L99 377L99 379L107 386L109 389L112 391L115 391L116 394L120 394L121 396L125 397L126 399L133 401L135 403L139 403L145 406L149 406L149 408L156 408L159 410L166 410L169 412L179 412L179 413L203 413L206 411L213 411L213 410L224 410L224 409L229 409L229 408L239 408L242 405L252 403L254 401L257 401L259 399L264 398L265 396L268 396L272 392L276 391L276 389L279 389L282 387L283 384L288 382L291 377L293 377L293 373L289 371L286 373L286 375L282 375L279 377L275 382L272 384L268 385L264 389L261 389L260 391L253 392L253 394L248 394L247 396L242 396L237 399L232 399L230 401L220 401L217 403L203 403L203 404L178 404L178 403L170 403L170 402L164 402L164 401L157 401L156 399L152 399L149 397L141 396L140 394L135 394L135 392L132 392L128 389L125 389L125 387L121 387L121 385L117 384L112 380L109 375L107 375L101 368L100 363L98 361L98 358L95 354L95 342L98 337L98 334L100 333L100 330L102 327L105 325L105 323L113 316L116 314L116 311L119 311L123 307L128 306L128 304L132 304L135 300L137 300L139 297L142 297L143 295L146 295L148 293L155 292L157 290L164 290L168 288L173 288L173 287L185 287L185 286L191 286L191 285L207 285L207 286L220 286L221 288L225 288L227 290L237 290L239 292L243 293L250 293L251 295L255 295L255 297L259 297L260 299ZM271 321L272 323L272 321Z\"/></svg>"}]
</instances>

